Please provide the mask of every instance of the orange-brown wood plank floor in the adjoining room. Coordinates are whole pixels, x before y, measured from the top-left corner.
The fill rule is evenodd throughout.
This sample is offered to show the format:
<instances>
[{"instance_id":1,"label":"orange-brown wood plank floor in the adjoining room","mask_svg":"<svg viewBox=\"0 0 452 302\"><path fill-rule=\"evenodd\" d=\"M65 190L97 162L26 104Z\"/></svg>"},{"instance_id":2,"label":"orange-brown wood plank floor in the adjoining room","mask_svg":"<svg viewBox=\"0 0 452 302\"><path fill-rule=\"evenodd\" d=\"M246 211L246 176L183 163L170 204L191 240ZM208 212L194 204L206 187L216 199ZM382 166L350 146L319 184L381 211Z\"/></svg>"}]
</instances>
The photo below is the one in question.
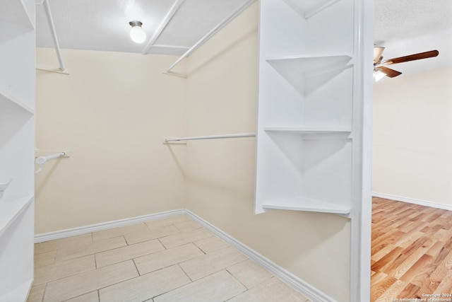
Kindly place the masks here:
<instances>
[{"instance_id":1,"label":"orange-brown wood plank floor in the adjoining room","mask_svg":"<svg viewBox=\"0 0 452 302\"><path fill-rule=\"evenodd\" d=\"M452 211L376 197L372 209L371 302L452 301Z\"/></svg>"}]
</instances>

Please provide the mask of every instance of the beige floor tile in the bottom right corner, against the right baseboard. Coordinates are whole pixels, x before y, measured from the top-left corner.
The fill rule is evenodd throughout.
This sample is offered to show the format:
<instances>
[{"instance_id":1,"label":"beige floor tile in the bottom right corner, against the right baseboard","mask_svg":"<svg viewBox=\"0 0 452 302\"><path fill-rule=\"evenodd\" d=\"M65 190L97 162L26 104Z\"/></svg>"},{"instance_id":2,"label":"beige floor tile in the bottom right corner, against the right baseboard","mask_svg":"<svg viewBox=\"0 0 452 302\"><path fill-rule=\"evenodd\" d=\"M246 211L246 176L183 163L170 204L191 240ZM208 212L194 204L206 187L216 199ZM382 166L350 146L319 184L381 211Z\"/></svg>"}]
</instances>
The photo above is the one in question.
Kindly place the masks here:
<instances>
[{"instance_id":1,"label":"beige floor tile in the bottom right corner, against the right baseboard","mask_svg":"<svg viewBox=\"0 0 452 302\"><path fill-rule=\"evenodd\" d=\"M287 298L288 300L283 300ZM228 302L274 302L274 301L284 301L284 302L304 302L309 301L308 298L302 294L297 293L290 286L285 284L280 279L273 277L268 281L265 281L252 289L245 291L243 294L235 296Z\"/></svg>"}]
</instances>

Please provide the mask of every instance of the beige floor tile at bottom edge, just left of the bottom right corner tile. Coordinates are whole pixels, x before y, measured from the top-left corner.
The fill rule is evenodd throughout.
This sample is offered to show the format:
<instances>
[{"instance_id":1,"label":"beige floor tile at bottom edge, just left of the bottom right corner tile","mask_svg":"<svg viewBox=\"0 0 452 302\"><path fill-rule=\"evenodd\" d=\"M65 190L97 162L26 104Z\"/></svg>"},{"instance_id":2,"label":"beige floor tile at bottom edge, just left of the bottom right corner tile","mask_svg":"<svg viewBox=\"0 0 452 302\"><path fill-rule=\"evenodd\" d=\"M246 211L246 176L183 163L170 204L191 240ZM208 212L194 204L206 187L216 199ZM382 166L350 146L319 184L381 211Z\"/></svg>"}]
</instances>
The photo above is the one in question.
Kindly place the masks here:
<instances>
[{"instance_id":1,"label":"beige floor tile at bottom edge, just left of the bottom right corner tile","mask_svg":"<svg viewBox=\"0 0 452 302\"><path fill-rule=\"evenodd\" d=\"M245 291L246 287L225 270L191 282L154 298L155 302L226 301Z\"/></svg>"}]
</instances>

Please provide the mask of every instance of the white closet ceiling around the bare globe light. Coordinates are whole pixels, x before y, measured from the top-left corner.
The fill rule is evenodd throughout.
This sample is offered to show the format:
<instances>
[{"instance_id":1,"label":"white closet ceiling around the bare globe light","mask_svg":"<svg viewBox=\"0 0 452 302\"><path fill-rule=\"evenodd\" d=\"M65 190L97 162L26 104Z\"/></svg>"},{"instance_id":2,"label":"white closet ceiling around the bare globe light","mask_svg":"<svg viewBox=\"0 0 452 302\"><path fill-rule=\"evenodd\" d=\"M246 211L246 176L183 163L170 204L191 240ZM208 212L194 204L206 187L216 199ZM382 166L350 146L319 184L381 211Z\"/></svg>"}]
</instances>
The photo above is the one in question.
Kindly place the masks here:
<instances>
[{"instance_id":1,"label":"white closet ceiling around the bare globe light","mask_svg":"<svg viewBox=\"0 0 452 302\"><path fill-rule=\"evenodd\" d=\"M61 48L138 52L147 42L129 37L129 21L143 23L148 40L176 0L48 0ZM148 53L183 54L245 0L184 0ZM36 9L36 44L54 47L44 5Z\"/></svg>"}]
</instances>

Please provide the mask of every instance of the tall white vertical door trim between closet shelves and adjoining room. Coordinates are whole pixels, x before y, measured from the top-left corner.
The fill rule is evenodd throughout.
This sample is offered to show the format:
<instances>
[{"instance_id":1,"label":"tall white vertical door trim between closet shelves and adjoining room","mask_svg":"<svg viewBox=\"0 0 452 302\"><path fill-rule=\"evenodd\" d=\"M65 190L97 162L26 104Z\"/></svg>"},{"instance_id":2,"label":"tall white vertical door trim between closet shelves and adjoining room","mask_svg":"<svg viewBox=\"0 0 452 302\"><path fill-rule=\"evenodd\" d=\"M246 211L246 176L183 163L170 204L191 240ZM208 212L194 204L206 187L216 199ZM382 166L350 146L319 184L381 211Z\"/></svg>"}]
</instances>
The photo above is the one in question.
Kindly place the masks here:
<instances>
[{"instance_id":1,"label":"tall white vertical door trim between closet shelves and adjoining room","mask_svg":"<svg viewBox=\"0 0 452 302\"><path fill-rule=\"evenodd\" d=\"M350 301L371 297L372 74L374 1L354 1Z\"/></svg>"}]
</instances>

